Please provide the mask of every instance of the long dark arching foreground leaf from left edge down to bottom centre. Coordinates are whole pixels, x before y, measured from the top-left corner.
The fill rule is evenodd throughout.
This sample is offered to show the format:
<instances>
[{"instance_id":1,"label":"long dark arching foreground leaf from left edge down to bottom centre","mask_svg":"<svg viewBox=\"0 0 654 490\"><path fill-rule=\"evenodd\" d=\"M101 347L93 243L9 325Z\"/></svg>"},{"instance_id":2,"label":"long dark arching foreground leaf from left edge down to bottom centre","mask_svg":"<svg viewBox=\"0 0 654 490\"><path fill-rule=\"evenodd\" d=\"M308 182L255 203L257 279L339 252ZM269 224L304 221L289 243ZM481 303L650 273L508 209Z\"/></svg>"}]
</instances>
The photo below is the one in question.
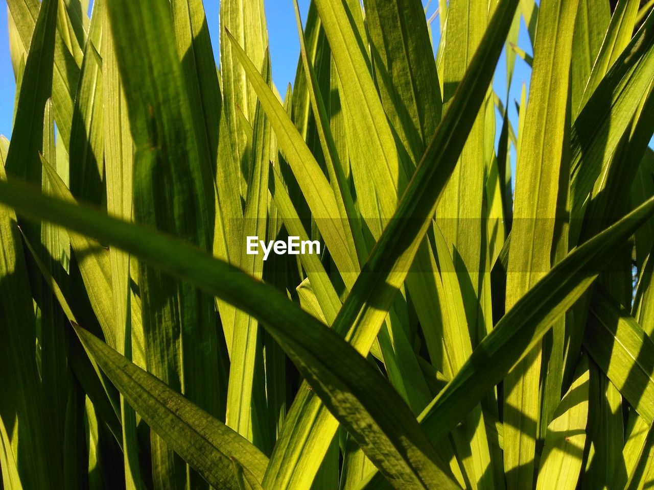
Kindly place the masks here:
<instances>
[{"instance_id":1,"label":"long dark arching foreground leaf from left edge down to bottom centre","mask_svg":"<svg viewBox=\"0 0 654 490\"><path fill-rule=\"evenodd\" d=\"M24 184L0 182L0 202L20 208L32 219L84 230L248 312L290 355L327 408L389 480L402 489L456 488L411 410L381 374L283 293L178 238L39 195ZM351 376L352 372L358 376Z\"/></svg>"}]
</instances>

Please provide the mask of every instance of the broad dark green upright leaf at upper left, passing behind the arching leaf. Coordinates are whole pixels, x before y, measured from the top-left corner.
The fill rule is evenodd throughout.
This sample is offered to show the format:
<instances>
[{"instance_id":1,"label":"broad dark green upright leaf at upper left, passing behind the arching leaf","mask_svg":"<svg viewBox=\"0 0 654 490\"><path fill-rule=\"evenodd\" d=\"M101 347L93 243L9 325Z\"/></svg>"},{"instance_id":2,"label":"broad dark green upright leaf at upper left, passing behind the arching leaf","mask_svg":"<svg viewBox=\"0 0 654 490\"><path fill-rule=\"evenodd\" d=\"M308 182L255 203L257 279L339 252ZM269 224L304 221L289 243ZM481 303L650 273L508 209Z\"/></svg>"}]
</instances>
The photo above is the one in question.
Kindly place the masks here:
<instances>
[{"instance_id":1,"label":"broad dark green upright leaf at upper left, passing behind the arching leaf","mask_svg":"<svg viewBox=\"0 0 654 490\"><path fill-rule=\"evenodd\" d=\"M107 14L136 150L134 218L211 250L213 172L198 150L170 4L110 1ZM218 393L205 389L220 385L214 299L141 262L139 287L148 370L217 416ZM156 437L152 461L155 487L203 486Z\"/></svg>"}]
</instances>

